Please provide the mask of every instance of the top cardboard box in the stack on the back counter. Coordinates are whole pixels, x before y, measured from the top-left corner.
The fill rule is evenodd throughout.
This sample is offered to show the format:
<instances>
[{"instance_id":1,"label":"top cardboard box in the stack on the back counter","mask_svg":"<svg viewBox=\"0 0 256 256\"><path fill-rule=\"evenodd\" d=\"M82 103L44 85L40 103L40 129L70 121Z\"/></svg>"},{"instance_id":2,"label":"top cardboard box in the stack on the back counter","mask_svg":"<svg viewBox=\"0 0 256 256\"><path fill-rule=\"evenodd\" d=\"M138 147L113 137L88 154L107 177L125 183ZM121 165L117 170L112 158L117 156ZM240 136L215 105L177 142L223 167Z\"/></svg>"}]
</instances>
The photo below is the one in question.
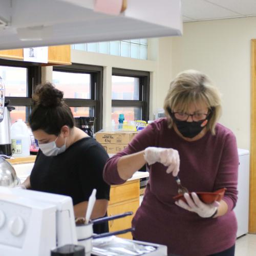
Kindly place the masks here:
<instances>
[{"instance_id":1,"label":"top cardboard box in the stack on the back counter","mask_svg":"<svg viewBox=\"0 0 256 256\"><path fill-rule=\"evenodd\" d=\"M129 144L138 132L109 132L96 133L96 140L100 144Z\"/></svg>"}]
</instances>

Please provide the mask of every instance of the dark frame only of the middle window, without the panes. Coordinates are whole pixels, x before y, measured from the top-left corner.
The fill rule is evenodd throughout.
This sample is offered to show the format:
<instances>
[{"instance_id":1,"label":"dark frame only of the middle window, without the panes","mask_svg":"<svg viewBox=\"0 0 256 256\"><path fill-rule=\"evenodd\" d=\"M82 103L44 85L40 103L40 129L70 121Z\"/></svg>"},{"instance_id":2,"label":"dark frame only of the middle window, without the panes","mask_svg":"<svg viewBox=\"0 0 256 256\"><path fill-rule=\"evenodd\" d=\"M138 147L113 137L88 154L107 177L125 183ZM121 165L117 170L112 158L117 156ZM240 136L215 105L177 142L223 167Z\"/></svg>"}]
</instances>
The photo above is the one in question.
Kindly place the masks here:
<instances>
[{"instance_id":1,"label":"dark frame only of the middle window, without the panes","mask_svg":"<svg viewBox=\"0 0 256 256\"><path fill-rule=\"evenodd\" d=\"M70 107L94 107L94 132L102 129L103 67L72 63L70 66L54 66L53 71L84 73L91 75L91 99L65 98Z\"/></svg>"}]
</instances>

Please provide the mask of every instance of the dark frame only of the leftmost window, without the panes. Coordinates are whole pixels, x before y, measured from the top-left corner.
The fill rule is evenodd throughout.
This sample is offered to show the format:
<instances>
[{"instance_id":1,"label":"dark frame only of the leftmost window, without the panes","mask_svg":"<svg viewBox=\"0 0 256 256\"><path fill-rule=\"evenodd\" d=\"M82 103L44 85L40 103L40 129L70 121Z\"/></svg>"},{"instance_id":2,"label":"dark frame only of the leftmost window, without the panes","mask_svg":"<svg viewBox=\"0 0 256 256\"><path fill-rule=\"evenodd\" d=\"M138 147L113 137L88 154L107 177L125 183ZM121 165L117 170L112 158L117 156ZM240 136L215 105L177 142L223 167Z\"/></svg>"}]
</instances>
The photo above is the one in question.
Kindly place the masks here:
<instances>
[{"instance_id":1,"label":"dark frame only of the leftmost window, without the panes","mask_svg":"<svg viewBox=\"0 0 256 256\"><path fill-rule=\"evenodd\" d=\"M0 59L0 66L13 67L13 68L26 68L27 72L27 97L9 97L5 96L5 100L9 101L12 106L25 106L26 107L26 120L32 110L32 97L36 86L41 83L41 66L36 62Z\"/></svg>"}]
</instances>

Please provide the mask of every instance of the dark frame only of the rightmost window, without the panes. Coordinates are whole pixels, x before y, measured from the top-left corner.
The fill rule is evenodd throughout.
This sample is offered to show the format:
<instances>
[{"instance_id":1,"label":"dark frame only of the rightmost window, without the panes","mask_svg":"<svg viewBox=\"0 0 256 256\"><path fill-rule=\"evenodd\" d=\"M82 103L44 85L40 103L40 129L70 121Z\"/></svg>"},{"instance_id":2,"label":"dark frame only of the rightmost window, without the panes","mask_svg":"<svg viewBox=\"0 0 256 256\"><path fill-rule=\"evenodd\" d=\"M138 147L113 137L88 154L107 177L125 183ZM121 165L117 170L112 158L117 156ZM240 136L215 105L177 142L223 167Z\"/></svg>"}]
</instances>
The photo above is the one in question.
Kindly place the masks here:
<instances>
[{"instance_id":1,"label":"dark frame only of the rightmost window, without the panes","mask_svg":"<svg viewBox=\"0 0 256 256\"><path fill-rule=\"evenodd\" d=\"M139 78L139 100L112 99L112 107L140 107L141 119L147 122L150 115L150 72L112 68L112 76Z\"/></svg>"}]
</instances>

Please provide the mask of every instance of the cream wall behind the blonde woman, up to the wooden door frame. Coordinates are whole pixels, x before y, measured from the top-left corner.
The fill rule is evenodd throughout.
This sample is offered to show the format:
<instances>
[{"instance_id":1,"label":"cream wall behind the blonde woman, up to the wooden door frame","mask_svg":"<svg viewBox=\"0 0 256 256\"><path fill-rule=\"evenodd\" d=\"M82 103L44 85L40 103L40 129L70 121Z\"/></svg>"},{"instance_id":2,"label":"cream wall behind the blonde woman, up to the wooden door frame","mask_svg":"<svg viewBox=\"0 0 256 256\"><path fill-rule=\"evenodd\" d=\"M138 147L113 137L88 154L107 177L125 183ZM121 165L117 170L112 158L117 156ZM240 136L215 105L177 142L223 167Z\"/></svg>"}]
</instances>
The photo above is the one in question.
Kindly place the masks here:
<instances>
[{"instance_id":1,"label":"cream wall behind the blonde woman, up to the wooden door frame","mask_svg":"<svg viewBox=\"0 0 256 256\"><path fill-rule=\"evenodd\" d=\"M222 93L220 122L250 148L250 39L256 17L185 23L182 37L172 38L172 75L186 69L207 74ZM173 78L172 77L172 78Z\"/></svg>"}]
</instances>

